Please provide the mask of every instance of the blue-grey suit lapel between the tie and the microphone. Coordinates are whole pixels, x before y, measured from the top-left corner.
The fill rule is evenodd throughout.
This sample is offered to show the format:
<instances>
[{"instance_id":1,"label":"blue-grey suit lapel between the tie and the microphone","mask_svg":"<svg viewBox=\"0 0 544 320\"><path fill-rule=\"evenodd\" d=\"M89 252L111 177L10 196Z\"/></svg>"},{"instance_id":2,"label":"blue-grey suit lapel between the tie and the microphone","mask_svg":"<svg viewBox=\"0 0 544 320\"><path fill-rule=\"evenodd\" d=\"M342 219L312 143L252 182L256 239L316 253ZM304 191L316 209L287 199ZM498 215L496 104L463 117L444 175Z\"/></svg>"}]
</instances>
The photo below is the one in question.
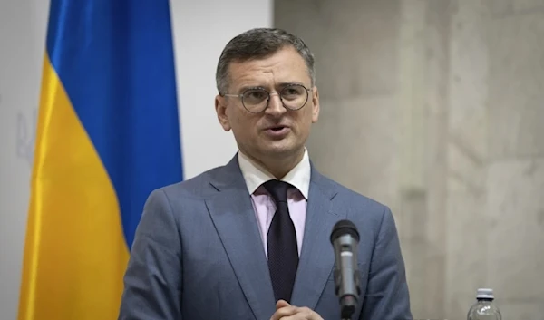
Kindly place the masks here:
<instances>
[{"instance_id":1,"label":"blue-grey suit lapel between the tie and the microphone","mask_svg":"<svg viewBox=\"0 0 544 320\"><path fill-rule=\"evenodd\" d=\"M332 208L335 195L334 185L312 165L306 226L292 305L315 309L335 265L335 253L329 235L336 221L343 218Z\"/></svg>"}]
</instances>

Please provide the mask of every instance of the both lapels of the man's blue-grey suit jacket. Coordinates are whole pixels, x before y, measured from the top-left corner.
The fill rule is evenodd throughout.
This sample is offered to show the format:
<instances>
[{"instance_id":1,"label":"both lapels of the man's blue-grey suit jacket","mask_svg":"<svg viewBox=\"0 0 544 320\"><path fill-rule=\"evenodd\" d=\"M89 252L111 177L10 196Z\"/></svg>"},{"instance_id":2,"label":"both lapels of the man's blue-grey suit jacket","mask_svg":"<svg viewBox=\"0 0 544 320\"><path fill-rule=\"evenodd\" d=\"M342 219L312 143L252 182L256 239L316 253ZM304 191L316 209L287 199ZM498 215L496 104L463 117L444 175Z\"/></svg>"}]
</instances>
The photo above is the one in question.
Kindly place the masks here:
<instances>
[{"instance_id":1,"label":"both lapels of the man's blue-grey suit jacket","mask_svg":"<svg viewBox=\"0 0 544 320\"><path fill-rule=\"evenodd\" d=\"M304 241L291 302L314 309L335 263L329 234L343 217L333 208L335 182L322 176L311 161L310 170ZM206 206L240 287L256 319L269 319L275 312L274 291L238 157L212 170L209 183L218 192L206 199Z\"/></svg>"}]
</instances>

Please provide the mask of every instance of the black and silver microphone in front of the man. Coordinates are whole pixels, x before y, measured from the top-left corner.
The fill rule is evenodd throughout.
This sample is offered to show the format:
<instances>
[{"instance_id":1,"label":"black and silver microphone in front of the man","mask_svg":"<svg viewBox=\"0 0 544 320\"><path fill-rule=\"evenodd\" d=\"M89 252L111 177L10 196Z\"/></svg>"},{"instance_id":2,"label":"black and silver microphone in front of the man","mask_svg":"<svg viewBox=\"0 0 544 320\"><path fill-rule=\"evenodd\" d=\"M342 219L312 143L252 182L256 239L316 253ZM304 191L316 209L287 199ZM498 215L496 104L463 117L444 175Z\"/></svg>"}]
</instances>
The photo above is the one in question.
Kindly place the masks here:
<instances>
[{"instance_id":1,"label":"black and silver microphone in front of the man","mask_svg":"<svg viewBox=\"0 0 544 320\"><path fill-rule=\"evenodd\" d=\"M351 319L361 294L357 270L359 232L353 222L340 220L336 222L330 239L335 248L335 294L340 300L342 319Z\"/></svg>"}]
</instances>

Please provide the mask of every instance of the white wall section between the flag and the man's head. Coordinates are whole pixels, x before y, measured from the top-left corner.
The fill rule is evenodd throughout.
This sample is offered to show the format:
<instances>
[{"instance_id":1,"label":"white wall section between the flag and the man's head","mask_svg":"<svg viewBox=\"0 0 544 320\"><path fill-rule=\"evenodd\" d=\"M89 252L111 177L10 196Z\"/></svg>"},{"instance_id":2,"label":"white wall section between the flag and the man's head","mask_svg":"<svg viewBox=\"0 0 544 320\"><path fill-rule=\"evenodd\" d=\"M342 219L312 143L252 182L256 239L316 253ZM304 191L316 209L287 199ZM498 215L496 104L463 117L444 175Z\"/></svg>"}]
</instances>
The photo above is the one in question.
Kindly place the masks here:
<instances>
[{"instance_id":1,"label":"white wall section between the flag and the man's head","mask_svg":"<svg viewBox=\"0 0 544 320\"><path fill-rule=\"evenodd\" d=\"M185 176L224 164L234 155L232 132L215 115L215 69L228 40L249 28L271 26L273 0L171 0L174 17L181 144ZM198 4L198 5L196 5Z\"/></svg>"}]
</instances>

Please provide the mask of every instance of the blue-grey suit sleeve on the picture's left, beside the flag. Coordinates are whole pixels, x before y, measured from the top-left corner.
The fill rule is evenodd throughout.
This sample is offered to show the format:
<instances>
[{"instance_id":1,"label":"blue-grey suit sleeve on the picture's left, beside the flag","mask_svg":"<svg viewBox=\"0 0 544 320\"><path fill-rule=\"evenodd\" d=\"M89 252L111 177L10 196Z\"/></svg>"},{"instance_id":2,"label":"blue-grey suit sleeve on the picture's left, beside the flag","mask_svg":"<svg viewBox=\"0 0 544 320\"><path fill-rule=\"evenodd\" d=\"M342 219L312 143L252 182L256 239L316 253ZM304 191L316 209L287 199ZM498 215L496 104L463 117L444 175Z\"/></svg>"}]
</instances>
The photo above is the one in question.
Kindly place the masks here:
<instances>
[{"instance_id":1,"label":"blue-grey suit sleeve on the picture's left, beside the flag","mask_svg":"<svg viewBox=\"0 0 544 320\"><path fill-rule=\"evenodd\" d=\"M124 276L119 320L181 320L181 241L163 190L147 199Z\"/></svg>"}]
</instances>

